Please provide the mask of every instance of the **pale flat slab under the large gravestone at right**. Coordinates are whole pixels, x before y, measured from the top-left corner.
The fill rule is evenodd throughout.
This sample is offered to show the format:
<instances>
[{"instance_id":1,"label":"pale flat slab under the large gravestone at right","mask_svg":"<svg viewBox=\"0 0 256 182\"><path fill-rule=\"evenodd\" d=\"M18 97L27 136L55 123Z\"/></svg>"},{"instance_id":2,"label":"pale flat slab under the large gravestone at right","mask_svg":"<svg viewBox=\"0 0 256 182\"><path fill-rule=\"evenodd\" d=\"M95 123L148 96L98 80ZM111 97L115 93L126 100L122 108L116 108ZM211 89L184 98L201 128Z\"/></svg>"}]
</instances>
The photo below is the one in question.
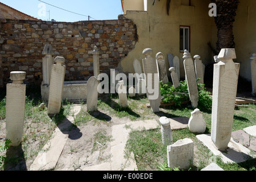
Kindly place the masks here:
<instances>
[{"instance_id":1,"label":"pale flat slab under the large gravestone at right","mask_svg":"<svg viewBox=\"0 0 256 182\"><path fill-rule=\"evenodd\" d=\"M204 144L204 146L208 147L215 156L220 156L224 163L241 163L245 162L251 157L255 157L250 156L250 150L242 146L242 144L235 142L233 138L231 138L228 144L228 149L226 149L224 152L217 150L214 143L212 142L210 134L197 135L196 138L199 139Z\"/></svg>"}]
</instances>

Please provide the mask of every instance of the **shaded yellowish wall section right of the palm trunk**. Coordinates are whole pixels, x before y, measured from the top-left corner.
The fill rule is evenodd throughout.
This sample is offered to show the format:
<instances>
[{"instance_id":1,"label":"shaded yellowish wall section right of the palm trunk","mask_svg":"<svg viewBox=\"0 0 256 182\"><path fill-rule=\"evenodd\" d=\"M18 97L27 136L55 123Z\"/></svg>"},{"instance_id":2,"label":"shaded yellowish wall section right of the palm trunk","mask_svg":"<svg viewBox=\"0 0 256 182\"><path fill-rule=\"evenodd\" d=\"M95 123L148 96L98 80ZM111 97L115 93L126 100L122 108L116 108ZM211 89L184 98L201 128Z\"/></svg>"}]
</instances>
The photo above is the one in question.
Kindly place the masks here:
<instances>
[{"instance_id":1,"label":"shaded yellowish wall section right of the palm trunk","mask_svg":"<svg viewBox=\"0 0 256 182\"><path fill-rule=\"evenodd\" d=\"M237 63L240 63L240 76L251 81L250 57L256 53L256 1L240 1L234 22Z\"/></svg>"}]
</instances>

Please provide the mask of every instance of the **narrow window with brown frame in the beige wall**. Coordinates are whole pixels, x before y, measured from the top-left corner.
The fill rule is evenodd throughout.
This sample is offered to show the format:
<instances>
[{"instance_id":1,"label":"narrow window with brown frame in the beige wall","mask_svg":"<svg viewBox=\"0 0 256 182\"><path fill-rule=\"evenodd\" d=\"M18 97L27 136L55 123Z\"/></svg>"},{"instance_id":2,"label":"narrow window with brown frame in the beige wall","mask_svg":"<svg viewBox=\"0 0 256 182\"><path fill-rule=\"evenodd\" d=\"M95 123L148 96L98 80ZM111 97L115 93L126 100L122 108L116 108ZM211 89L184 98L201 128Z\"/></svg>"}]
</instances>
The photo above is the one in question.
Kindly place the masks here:
<instances>
[{"instance_id":1,"label":"narrow window with brown frame in the beige wall","mask_svg":"<svg viewBox=\"0 0 256 182\"><path fill-rule=\"evenodd\" d=\"M190 51L190 27L180 26L180 52Z\"/></svg>"}]
</instances>

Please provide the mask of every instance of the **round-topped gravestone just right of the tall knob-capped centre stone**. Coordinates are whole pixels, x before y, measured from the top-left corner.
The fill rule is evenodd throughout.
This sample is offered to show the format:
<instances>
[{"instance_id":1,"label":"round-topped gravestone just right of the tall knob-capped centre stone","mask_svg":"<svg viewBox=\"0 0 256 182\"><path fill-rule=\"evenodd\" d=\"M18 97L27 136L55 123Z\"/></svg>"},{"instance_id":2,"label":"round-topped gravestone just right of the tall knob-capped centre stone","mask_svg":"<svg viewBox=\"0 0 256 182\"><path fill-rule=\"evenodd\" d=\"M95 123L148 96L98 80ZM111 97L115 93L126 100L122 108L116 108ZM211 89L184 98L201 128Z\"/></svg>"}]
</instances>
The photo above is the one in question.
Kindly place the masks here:
<instances>
[{"instance_id":1,"label":"round-topped gravestone just right of the tall knob-capped centre stone","mask_svg":"<svg viewBox=\"0 0 256 182\"><path fill-rule=\"evenodd\" d=\"M169 80L166 72L166 61L164 60L164 55L162 52L158 52L156 54L156 61L159 69L159 81L163 81L164 84L167 84Z\"/></svg>"}]
</instances>

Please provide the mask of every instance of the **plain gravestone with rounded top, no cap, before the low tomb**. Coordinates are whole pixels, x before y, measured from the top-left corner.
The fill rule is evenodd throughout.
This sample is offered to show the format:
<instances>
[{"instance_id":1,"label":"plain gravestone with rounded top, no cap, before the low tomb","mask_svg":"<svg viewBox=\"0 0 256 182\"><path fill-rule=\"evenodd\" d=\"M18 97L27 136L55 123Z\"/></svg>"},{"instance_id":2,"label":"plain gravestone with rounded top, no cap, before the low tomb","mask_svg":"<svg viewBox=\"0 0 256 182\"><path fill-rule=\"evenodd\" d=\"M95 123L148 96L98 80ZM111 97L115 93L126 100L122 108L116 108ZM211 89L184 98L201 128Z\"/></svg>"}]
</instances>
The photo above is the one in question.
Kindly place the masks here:
<instances>
[{"instance_id":1,"label":"plain gravestone with rounded top, no cap, before the low tomb","mask_svg":"<svg viewBox=\"0 0 256 182\"><path fill-rule=\"evenodd\" d=\"M89 78L87 82L87 97L86 107L87 111L97 111L98 104L98 80L95 76Z\"/></svg>"}]
</instances>

